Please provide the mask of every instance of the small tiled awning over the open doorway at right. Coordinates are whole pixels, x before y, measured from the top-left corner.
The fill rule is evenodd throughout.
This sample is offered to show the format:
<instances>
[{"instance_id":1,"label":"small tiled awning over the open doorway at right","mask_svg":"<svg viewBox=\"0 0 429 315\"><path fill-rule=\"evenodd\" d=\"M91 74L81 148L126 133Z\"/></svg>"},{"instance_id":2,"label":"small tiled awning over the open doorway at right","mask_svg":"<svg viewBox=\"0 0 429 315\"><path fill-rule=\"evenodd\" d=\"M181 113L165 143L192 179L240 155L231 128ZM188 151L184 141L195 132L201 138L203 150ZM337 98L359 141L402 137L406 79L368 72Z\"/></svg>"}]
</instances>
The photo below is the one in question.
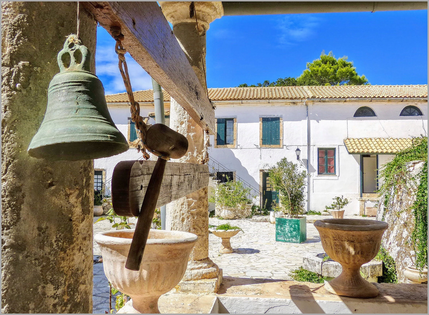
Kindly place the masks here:
<instances>
[{"instance_id":1,"label":"small tiled awning over the open doorway at right","mask_svg":"<svg viewBox=\"0 0 429 315\"><path fill-rule=\"evenodd\" d=\"M398 153L412 145L411 138L347 138L347 151L353 153Z\"/></svg>"}]
</instances>

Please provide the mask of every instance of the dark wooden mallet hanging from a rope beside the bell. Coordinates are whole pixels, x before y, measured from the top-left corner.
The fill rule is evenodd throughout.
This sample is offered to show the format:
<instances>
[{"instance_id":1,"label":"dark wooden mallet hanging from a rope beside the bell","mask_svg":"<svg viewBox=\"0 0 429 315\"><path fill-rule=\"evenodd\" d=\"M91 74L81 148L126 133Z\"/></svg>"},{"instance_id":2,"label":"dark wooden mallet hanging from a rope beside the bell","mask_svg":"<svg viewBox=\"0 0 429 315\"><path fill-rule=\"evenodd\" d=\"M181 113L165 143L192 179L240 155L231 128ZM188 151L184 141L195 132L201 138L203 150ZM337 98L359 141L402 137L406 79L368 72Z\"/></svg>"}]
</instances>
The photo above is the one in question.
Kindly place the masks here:
<instances>
[{"instance_id":1,"label":"dark wooden mallet hanging from a rope beside the bell","mask_svg":"<svg viewBox=\"0 0 429 315\"><path fill-rule=\"evenodd\" d=\"M145 141L146 146L152 151L160 152L174 159L184 156L188 149L186 137L163 124L152 125L146 132ZM131 241L130 251L125 264L125 268L129 270L140 269L143 252L145 250L146 241L148 240L149 230L151 229L152 219L160 194L166 162L165 159L158 158L151 179L149 180L142 208L140 209L137 219L133 241ZM133 216L134 214L130 213L128 215Z\"/></svg>"}]
</instances>

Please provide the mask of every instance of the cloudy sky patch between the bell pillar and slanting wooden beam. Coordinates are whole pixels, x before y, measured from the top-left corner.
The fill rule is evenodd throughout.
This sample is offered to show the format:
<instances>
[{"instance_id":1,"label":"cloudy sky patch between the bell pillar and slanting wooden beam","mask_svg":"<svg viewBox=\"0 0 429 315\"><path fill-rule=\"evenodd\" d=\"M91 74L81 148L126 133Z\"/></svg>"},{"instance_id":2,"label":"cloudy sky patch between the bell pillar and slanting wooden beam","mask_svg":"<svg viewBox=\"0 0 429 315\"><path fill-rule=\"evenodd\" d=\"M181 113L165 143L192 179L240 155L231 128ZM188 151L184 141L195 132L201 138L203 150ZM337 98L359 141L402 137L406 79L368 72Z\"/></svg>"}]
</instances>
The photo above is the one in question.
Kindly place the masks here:
<instances>
[{"instance_id":1,"label":"cloudy sky patch between the bell pillar and slanting wooden beam","mask_svg":"<svg viewBox=\"0 0 429 315\"><path fill-rule=\"evenodd\" d=\"M125 55L133 91L152 88L149 74L130 56ZM115 42L98 42L95 54L96 73L104 86L106 95L125 92L124 81L118 68L118 55L115 53Z\"/></svg>"}]
</instances>

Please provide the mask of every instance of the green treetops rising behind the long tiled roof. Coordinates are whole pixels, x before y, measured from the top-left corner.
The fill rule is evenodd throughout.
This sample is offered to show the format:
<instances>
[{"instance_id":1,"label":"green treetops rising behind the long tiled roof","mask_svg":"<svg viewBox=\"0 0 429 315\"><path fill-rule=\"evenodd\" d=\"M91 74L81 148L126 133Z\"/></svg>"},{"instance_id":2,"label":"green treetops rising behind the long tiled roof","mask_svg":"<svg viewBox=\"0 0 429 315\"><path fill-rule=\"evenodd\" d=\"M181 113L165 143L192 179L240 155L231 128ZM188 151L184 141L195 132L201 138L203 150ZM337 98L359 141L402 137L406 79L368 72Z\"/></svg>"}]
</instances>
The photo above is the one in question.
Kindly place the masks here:
<instances>
[{"instance_id":1,"label":"green treetops rising behind the long tiled roof","mask_svg":"<svg viewBox=\"0 0 429 315\"><path fill-rule=\"evenodd\" d=\"M297 78L278 78L270 82L247 85L240 84L238 87L266 87L266 86L332 86L332 85L366 85L369 84L365 75L359 76L353 61L347 61L347 56L336 59L330 51L327 55L324 51L320 59L307 62L307 68Z\"/></svg>"}]
</instances>

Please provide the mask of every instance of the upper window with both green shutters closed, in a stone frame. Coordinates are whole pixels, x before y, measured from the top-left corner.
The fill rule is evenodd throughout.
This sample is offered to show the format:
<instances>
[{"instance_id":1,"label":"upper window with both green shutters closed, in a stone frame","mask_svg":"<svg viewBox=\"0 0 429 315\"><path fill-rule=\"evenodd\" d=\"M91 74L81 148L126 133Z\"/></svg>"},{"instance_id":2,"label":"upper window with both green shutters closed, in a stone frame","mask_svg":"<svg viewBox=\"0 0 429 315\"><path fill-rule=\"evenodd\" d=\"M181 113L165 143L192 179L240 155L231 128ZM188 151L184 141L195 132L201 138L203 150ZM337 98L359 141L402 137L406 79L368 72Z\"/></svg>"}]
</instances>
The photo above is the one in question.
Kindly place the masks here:
<instances>
[{"instance_id":1,"label":"upper window with both green shutters closed, in a stone frame","mask_svg":"<svg viewBox=\"0 0 429 315\"><path fill-rule=\"evenodd\" d=\"M283 147L283 119L281 117L260 117L260 147Z\"/></svg>"}]
</instances>

